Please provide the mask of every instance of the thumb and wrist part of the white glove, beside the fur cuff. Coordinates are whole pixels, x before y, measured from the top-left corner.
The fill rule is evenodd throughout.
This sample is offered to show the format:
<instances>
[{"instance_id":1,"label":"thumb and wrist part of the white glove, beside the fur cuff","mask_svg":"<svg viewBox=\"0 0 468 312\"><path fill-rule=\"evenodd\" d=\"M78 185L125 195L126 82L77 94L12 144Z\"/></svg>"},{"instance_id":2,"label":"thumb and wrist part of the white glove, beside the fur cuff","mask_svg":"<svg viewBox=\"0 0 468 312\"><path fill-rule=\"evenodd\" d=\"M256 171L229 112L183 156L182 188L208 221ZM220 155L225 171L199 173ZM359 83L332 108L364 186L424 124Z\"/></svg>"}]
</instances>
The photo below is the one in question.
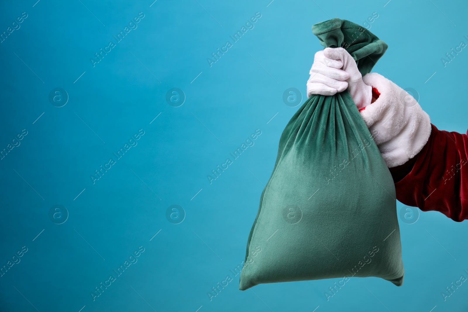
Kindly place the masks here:
<instances>
[{"instance_id":1,"label":"thumb and wrist part of the white glove, beside the fur cuff","mask_svg":"<svg viewBox=\"0 0 468 312\"><path fill-rule=\"evenodd\" d=\"M359 73L358 65L352 56L343 48L325 48L323 50L323 55L326 58L342 62L343 70L349 74L349 78L346 80L346 82L348 82L348 91L358 109L362 109L369 105L372 101L372 87L366 85L362 80L362 75Z\"/></svg>"}]
</instances>

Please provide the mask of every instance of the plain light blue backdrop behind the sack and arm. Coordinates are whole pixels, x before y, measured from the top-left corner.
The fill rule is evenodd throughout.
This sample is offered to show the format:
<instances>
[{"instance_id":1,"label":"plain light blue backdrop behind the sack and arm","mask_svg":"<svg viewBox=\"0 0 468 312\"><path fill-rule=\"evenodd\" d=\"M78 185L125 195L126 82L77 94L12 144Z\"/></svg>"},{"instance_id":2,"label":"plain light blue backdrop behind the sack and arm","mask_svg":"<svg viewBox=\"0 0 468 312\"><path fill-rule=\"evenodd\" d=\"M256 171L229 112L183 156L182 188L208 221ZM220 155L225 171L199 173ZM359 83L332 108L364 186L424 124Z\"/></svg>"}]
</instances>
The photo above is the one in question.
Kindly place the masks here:
<instances>
[{"instance_id":1,"label":"plain light blue backdrop behind the sack and arm","mask_svg":"<svg viewBox=\"0 0 468 312\"><path fill-rule=\"evenodd\" d=\"M468 43L466 2L36 1L2 1L0 10L0 32L28 14L0 43L0 149L28 131L0 160L0 266L28 248L0 277L1 311L467 311L467 283L445 302L441 295L468 277L467 223L439 212L399 220L402 287L352 278L327 302L341 279L242 292L236 276L207 296L244 260L279 136L297 109L283 92L305 97L322 48L311 26L333 17L363 24L377 12L371 31L389 48L374 71L417 90L439 129L466 133L468 51L441 62ZM138 28L93 67L90 58L139 12ZM256 12L255 28L210 67L206 59ZM56 87L69 95L60 108L48 100ZM177 108L165 100L172 87L186 96ZM90 175L139 129L138 145L93 184ZM255 145L210 184L211 170L256 129ZM69 213L61 225L48 216L56 204ZM178 225L166 219L172 204L186 213ZM140 246L138 262L93 302L95 286Z\"/></svg>"}]
</instances>

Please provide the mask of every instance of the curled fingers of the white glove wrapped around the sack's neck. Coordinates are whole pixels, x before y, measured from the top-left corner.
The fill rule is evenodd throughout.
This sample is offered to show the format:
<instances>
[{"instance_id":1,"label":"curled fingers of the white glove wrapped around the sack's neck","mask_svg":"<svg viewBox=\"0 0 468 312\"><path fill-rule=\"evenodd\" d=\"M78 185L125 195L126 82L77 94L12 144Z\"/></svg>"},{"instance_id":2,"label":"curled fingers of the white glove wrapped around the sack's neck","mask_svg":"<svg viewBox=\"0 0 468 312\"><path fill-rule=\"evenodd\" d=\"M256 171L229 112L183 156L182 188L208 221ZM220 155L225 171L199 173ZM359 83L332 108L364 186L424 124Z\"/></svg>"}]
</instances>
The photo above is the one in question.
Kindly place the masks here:
<instances>
[{"instance_id":1,"label":"curled fingers of the white glove wrapped around the sack's neck","mask_svg":"<svg viewBox=\"0 0 468 312\"><path fill-rule=\"evenodd\" d=\"M341 67L343 61L326 58L323 50L315 53L307 81L307 98L312 94L334 95L346 90L348 83L344 80L350 78L350 75L341 70Z\"/></svg>"}]
</instances>

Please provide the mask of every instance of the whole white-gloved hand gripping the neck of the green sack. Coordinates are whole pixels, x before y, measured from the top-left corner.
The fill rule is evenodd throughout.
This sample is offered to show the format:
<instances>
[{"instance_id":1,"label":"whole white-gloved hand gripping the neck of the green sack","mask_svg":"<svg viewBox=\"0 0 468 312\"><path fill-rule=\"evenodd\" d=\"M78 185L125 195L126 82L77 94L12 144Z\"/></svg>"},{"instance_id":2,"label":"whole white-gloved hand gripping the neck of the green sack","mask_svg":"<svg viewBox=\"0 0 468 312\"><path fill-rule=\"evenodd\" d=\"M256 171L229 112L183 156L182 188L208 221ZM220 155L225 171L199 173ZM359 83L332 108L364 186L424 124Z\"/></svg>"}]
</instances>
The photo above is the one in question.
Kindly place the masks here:
<instances>
[{"instance_id":1,"label":"whole white-gloved hand gripping the neck of the green sack","mask_svg":"<svg viewBox=\"0 0 468 312\"><path fill-rule=\"evenodd\" d=\"M345 89L334 86L343 87L343 82L346 82L351 98L358 109L369 105L372 101L372 87L362 80L358 65L352 56L343 48L325 48L322 51L322 58L317 58L319 52L315 53L315 66L312 65L310 70L309 81L312 83L309 87L309 82L307 82L307 96L309 96L309 90L310 94L333 95ZM342 67L337 67L339 65ZM343 75L343 71L347 73L347 76ZM344 77L346 81L343 81ZM336 90L335 93L331 92L333 88ZM326 91L329 93L325 94Z\"/></svg>"}]
</instances>

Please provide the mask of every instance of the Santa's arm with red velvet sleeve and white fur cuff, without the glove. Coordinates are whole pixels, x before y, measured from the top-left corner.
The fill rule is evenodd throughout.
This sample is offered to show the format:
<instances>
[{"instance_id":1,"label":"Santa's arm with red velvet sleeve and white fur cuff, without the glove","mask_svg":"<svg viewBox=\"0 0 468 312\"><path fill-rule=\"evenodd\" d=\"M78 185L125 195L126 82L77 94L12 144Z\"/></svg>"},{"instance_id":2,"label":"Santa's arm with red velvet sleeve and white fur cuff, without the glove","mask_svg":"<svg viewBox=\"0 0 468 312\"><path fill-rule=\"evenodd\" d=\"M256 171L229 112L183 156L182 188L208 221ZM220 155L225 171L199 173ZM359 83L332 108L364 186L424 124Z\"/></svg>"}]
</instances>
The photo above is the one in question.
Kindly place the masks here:
<instances>
[{"instance_id":1,"label":"Santa's arm with red velvet sleeve and white fur cuff, without the glove","mask_svg":"<svg viewBox=\"0 0 468 312\"><path fill-rule=\"evenodd\" d=\"M396 198L467 219L468 136L438 130L411 95L381 75L363 80L377 99L360 113L393 176Z\"/></svg>"}]
</instances>

